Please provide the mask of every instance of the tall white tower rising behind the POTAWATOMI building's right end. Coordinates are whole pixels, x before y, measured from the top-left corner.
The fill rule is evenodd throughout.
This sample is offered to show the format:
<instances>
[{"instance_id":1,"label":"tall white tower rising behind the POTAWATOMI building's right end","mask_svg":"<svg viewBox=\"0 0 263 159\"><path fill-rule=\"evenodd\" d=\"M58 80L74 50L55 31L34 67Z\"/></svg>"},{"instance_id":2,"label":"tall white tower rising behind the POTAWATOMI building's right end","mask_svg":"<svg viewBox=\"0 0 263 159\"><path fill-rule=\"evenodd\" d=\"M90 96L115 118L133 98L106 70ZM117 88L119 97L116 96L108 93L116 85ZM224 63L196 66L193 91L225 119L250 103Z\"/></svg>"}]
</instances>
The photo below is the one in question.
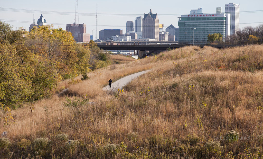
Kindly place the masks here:
<instances>
[{"instance_id":1,"label":"tall white tower rising behind the POTAWATOMI building's right end","mask_svg":"<svg viewBox=\"0 0 263 159\"><path fill-rule=\"evenodd\" d=\"M230 13L230 35L239 30L239 4L225 4L225 13Z\"/></svg>"}]
</instances>

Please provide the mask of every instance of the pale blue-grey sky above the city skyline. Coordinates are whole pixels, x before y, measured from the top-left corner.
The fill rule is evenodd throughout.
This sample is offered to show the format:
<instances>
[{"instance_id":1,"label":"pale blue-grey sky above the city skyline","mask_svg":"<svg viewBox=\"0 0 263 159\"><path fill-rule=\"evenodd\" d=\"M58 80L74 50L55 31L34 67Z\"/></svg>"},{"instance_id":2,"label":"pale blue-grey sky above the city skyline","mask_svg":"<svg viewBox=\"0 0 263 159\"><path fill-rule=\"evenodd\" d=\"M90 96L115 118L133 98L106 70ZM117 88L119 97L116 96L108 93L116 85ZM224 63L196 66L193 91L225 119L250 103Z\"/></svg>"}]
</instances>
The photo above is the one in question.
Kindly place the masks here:
<instances>
[{"instance_id":1,"label":"pale blue-grey sky above the city skyline","mask_svg":"<svg viewBox=\"0 0 263 159\"><path fill-rule=\"evenodd\" d=\"M126 21L134 21L136 17L144 16L144 13L149 13L150 9L152 9L153 14L157 13L159 23L164 24L166 28L171 24L176 27L179 19L177 17L181 14L189 14L191 9L203 8L203 13L215 13L216 7L222 7L222 12L224 12L225 4L229 3L240 4L241 29L245 26L255 27L263 24L262 0L78 0L78 19L79 24L84 23L87 25L87 33L93 35L93 39L95 39L95 13L97 5L98 39L99 30L102 29L123 29L123 34L125 34ZM259 11L242 13L244 11L255 10ZM33 23L33 17L35 18L35 22L37 22L41 14L48 24L54 24L54 28L62 28L65 30L66 24L72 24L74 22L75 0L0 0L0 20L12 25L13 29L24 27L28 31L29 25Z\"/></svg>"}]
</instances>

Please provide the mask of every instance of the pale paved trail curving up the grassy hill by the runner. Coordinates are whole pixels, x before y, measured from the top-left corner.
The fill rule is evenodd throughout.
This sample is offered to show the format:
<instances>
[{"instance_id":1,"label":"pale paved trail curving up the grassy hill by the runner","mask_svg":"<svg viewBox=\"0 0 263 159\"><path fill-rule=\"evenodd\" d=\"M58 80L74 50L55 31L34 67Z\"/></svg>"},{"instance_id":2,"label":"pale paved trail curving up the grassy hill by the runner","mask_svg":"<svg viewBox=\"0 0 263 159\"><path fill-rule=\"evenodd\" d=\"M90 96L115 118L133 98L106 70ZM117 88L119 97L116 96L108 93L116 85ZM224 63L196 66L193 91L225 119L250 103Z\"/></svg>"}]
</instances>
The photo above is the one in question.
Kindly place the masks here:
<instances>
[{"instance_id":1,"label":"pale paved trail curving up the grassy hill by the runner","mask_svg":"<svg viewBox=\"0 0 263 159\"><path fill-rule=\"evenodd\" d=\"M104 87L102 90L104 91L116 91L119 88L122 89L123 86L127 85L130 81L132 81L133 79L139 77L140 75L147 73L151 70L146 70L146 71L142 71L142 72L137 72L128 76L125 76L115 82L112 83L112 86L110 87L109 85L107 85L106 87Z\"/></svg>"}]
</instances>

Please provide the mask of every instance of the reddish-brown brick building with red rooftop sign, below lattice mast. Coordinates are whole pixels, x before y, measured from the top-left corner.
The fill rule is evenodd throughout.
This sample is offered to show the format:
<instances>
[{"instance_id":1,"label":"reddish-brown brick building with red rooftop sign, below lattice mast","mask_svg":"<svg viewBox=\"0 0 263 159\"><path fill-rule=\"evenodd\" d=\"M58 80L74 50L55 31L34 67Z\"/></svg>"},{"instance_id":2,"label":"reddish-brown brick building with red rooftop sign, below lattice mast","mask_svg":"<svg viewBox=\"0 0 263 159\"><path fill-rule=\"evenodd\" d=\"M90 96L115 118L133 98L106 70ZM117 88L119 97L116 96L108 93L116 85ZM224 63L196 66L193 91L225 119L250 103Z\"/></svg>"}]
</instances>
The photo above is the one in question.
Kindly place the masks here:
<instances>
[{"instance_id":1,"label":"reddish-brown brick building with red rooftop sign, below lattice mast","mask_svg":"<svg viewBox=\"0 0 263 159\"><path fill-rule=\"evenodd\" d=\"M66 30L71 32L76 42L89 42L90 35L86 33L86 24L67 24Z\"/></svg>"}]
</instances>

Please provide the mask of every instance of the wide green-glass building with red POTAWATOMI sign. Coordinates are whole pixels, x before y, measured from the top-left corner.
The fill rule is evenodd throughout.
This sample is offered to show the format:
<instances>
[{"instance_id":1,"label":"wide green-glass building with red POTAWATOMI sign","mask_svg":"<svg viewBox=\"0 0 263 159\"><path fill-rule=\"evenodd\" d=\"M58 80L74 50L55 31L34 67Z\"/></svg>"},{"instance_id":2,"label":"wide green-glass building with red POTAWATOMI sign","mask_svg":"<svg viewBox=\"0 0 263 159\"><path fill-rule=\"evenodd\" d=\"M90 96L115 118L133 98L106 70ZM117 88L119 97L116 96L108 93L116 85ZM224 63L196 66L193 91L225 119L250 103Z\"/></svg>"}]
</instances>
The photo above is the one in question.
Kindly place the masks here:
<instances>
[{"instance_id":1,"label":"wide green-glass building with red POTAWATOMI sign","mask_svg":"<svg viewBox=\"0 0 263 159\"><path fill-rule=\"evenodd\" d=\"M222 40L230 35L230 14L186 14L178 17L179 43L206 44L207 35L220 33Z\"/></svg>"}]
</instances>

